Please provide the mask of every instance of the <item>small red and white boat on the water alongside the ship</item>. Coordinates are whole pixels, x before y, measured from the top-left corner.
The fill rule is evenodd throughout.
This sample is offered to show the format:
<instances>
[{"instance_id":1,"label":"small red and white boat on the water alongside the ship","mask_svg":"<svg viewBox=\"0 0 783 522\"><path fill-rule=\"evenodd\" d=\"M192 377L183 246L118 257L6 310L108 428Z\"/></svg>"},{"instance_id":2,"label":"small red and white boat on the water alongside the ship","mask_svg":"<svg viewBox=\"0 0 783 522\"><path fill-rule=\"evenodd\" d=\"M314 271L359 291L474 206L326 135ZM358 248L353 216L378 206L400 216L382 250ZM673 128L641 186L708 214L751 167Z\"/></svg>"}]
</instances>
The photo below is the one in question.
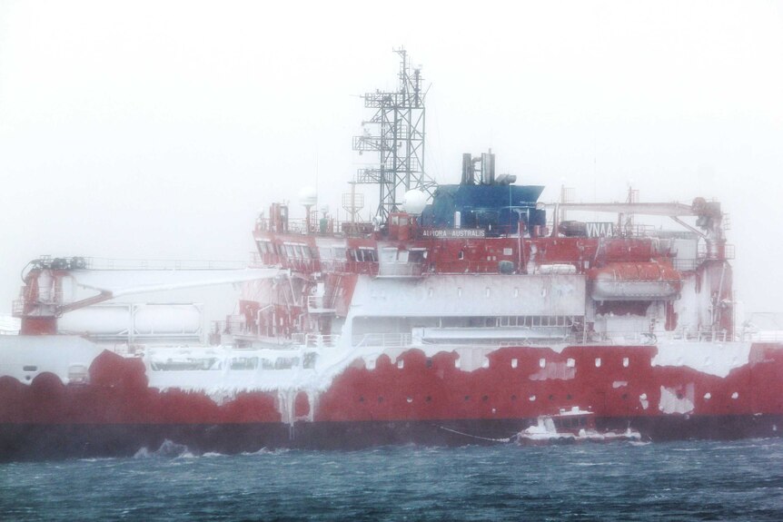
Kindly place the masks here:
<instances>
[{"instance_id":1,"label":"small red and white boat on the water alongside the ship","mask_svg":"<svg viewBox=\"0 0 783 522\"><path fill-rule=\"evenodd\" d=\"M560 409L555 415L541 415L534 425L522 429L512 440L525 446L641 440L639 431L630 427L625 431L597 429L592 415L592 411L578 406Z\"/></svg>"}]
</instances>

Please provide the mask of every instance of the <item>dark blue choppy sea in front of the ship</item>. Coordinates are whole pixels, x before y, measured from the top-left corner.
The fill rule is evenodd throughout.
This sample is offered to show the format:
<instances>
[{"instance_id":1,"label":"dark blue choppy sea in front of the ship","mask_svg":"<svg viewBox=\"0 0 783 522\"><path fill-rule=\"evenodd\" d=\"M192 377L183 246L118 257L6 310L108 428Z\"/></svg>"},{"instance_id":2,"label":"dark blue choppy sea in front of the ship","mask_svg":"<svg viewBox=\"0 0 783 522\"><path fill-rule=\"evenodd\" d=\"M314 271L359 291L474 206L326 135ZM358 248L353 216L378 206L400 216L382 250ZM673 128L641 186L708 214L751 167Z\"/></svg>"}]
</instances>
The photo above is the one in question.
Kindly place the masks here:
<instances>
[{"instance_id":1,"label":"dark blue choppy sea in front of the ship","mask_svg":"<svg viewBox=\"0 0 783 522\"><path fill-rule=\"evenodd\" d=\"M0 465L0 520L783 520L783 440Z\"/></svg>"}]
</instances>

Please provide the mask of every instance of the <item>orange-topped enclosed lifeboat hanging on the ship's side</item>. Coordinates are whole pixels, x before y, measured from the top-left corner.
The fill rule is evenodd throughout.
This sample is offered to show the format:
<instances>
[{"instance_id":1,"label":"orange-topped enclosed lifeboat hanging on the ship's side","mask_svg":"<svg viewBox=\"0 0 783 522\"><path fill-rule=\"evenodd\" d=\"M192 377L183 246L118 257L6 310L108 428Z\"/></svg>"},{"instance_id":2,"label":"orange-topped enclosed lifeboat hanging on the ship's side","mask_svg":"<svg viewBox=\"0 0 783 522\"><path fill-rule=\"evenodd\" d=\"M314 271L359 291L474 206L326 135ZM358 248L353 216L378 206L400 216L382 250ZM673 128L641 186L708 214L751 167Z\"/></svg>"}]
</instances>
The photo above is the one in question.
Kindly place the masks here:
<instances>
[{"instance_id":1,"label":"orange-topped enclosed lifeboat hanging on the ship's side","mask_svg":"<svg viewBox=\"0 0 783 522\"><path fill-rule=\"evenodd\" d=\"M676 300L679 271L657 262L612 262L587 273L593 300Z\"/></svg>"}]
</instances>

